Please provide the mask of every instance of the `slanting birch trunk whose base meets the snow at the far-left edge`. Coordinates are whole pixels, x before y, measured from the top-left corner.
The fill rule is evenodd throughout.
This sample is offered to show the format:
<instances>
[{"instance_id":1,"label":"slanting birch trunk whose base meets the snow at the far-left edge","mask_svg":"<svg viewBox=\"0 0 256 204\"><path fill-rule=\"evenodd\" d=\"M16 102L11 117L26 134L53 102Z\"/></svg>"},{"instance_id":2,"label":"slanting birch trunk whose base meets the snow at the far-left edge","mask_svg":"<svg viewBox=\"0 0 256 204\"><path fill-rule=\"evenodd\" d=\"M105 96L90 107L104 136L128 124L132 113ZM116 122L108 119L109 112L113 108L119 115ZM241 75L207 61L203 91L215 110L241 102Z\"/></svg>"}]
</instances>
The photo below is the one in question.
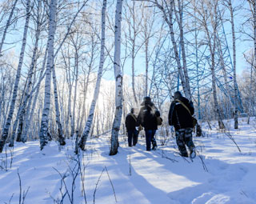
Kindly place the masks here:
<instances>
[{"instance_id":1,"label":"slanting birch trunk whose base meets the snow at the far-left edge","mask_svg":"<svg viewBox=\"0 0 256 204\"><path fill-rule=\"evenodd\" d=\"M24 53L26 48L26 34L29 28L29 22L30 22L30 0L27 0L26 1L26 22L25 22L24 31L23 31L22 49L19 57L18 69L17 69L16 78L14 82L14 91L13 91L13 97L10 104L10 110L9 110L8 118L6 120L6 125L2 133L2 138L0 140L0 153L2 152L3 146L5 145L6 138L8 136L9 129L10 129L10 122L14 114L14 108L15 108L16 98L18 94L18 83L21 77L22 63L23 63L23 58L24 58Z\"/></svg>"}]
</instances>

